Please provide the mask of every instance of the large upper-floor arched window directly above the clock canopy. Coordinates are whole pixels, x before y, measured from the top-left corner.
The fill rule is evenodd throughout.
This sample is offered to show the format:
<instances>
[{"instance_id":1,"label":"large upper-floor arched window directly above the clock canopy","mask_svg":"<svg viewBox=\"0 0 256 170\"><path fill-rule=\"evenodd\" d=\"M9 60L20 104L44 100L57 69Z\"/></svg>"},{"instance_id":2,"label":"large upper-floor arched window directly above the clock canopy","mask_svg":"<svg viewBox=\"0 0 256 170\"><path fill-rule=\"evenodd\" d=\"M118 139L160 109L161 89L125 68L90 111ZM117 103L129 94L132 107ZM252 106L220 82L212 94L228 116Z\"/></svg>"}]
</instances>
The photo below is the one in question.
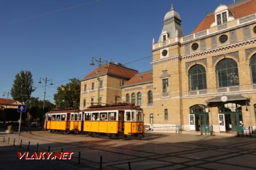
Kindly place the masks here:
<instances>
[{"instance_id":1,"label":"large upper-floor arched window directly above the clock canopy","mask_svg":"<svg viewBox=\"0 0 256 170\"><path fill-rule=\"evenodd\" d=\"M218 62L216 71L218 87L239 85L237 63L233 59L226 58Z\"/></svg>"}]
</instances>

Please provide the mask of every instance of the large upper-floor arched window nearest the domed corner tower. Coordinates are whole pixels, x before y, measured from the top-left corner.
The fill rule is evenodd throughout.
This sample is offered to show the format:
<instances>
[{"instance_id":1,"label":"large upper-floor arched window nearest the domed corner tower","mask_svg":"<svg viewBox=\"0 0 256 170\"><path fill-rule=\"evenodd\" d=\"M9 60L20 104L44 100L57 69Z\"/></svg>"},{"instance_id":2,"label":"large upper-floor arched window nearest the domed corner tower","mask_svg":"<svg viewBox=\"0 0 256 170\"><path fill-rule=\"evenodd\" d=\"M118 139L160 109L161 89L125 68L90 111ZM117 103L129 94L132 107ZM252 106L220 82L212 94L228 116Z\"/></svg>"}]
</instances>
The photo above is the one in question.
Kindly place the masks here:
<instances>
[{"instance_id":1,"label":"large upper-floor arched window nearest the domed corner tower","mask_svg":"<svg viewBox=\"0 0 256 170\"><path fill-rule=\"evenodd\" d=\"M207 88L205 69L202 65L195 65L189 70L189 90L202 90Z\"/></svg>"}]
</instances>

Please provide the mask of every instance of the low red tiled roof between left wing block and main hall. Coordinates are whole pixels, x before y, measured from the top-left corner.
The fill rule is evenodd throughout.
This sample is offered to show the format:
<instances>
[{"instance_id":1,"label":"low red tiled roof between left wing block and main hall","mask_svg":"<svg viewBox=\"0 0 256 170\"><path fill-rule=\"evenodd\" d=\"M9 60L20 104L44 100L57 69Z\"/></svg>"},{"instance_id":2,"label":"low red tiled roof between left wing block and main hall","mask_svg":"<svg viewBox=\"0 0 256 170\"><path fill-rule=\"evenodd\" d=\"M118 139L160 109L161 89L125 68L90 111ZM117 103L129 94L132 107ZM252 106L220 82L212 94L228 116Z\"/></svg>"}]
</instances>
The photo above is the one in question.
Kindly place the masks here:
<instances>
[{"instance_id":1,"label":"low red tiled roof between left wing block and main hall","mask_svg":"<svg viewBox=\"0 0 256 170\"><path fill-rule=\"evenodd\" d=\"M128 82L126 82L124 86L126 87L133 84L152 82L153 81L152 75L153 75L152 70L136 74L133 78L131 78Z\"/></svg>"}]
</instances>

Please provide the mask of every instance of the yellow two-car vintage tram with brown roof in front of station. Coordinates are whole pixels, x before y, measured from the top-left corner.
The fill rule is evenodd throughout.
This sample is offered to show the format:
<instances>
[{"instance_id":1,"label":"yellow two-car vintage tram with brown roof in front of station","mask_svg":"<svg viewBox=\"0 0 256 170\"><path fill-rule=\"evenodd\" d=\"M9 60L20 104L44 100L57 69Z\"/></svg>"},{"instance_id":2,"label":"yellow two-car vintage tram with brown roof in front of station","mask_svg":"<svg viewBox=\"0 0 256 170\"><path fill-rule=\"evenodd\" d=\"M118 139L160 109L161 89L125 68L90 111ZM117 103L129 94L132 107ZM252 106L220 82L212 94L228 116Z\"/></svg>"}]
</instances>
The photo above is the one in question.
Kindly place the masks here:
<instances>
[{"instance_id":1,"label":"yellow two-car vintage tram with brown roof in front of station","mask_svg":"<svg viewBox=\"0 0 256 170\"><path fill-rule=\"evenodd\" d=\"M123 103L94 105L82 111L51 111L46 113L44 128L51 131L79 131L92 136L104 133L110 138L120 135L144 137L143 110Z\"/></svg>"}]
</instances>

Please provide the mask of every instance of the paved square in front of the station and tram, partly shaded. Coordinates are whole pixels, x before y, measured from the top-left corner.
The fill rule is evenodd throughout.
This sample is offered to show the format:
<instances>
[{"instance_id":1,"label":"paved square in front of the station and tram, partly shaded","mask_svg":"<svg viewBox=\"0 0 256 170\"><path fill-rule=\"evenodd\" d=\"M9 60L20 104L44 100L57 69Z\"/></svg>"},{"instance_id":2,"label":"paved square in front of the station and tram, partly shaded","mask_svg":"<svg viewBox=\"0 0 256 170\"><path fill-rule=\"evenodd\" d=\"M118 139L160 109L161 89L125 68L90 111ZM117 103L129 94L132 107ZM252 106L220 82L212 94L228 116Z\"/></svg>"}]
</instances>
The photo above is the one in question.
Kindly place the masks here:
<instances>
[{"instance_id":1,"label":"paved square in front of the station and tram, partly shaded","mask_svg":"<svg viewBox=\"0 0 256 170\"><path fill-rule=\"evenodd\" d=\"M23 131L0 135L0 169L256 169L256 138L147 133L145 138L109 139L104 135ZM9 144L8 138L10 138ZM71 160L19 160L17 151L72 151ZM81 163L78 155L81 152Z\"/></svg>"}]
</instances>

